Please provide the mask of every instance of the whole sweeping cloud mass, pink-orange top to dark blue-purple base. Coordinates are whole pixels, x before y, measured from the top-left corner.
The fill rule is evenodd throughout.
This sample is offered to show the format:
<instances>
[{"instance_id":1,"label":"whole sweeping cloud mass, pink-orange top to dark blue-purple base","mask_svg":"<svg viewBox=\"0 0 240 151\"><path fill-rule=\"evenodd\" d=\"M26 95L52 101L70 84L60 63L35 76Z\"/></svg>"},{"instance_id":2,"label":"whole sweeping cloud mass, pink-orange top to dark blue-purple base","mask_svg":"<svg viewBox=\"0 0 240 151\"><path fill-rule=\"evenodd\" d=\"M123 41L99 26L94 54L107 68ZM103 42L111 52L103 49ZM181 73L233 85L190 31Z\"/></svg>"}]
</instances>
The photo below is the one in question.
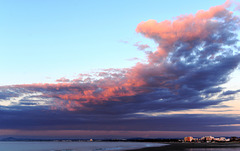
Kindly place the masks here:
<instances>
[{"instance_id":1,"label":"whole sweeping cloud mass, pink-orange top to dark blue-purple base","mask_svg":"<svg viewBox=\"0 0 240 151\"><path fill-rule=\"evenodd\" d=\"M134 129L136 123L141 125L144 121L158 125L148 127L151 130L177 129L169 127L173 123L166 117L158 117L157 122L155 118L136 113L206 108L233 99L233 93L226 93L221 87L240 62L236 34L240 20L228 10L230 6L227 1L207 11L198 11L195 15L178 16L172 21L141 22L136 32L158 44L156 51L147 54L147 63L139 62L127 69L106 69L93 75L81 74L73 80L61 78L57 80L58 84L2 87L0 99L13 103L11 106L0 104L3 109L0 115L8 117L0 118L0 123L5 123L0 128L16 128L14 123L19 119L7 119L17 119L16 116L23 114L27 127L33 129L50 123L59 129L106 129L103 125L108 125L108 128L123 130ZM13 112L19 114L11 115ZM31 126L35 119L28 112L34 113L34 116L50 114L55 123L42 117L37 118L39 125ZM206 121L211 121L209 125L237 122L232 118L213 120L212 117L196 117L185 120L203 122L202 126ZM174 117L180 125L183 119L184 116ZM98 127L94 126L94 121L99 124ZM162 127L159 126L161 124ZM24 124L19 124L19 127L26 128ZM183 127L181 130L184 130ZM202 130L214 129L203 127ZM185 130L187 128L185 125ZM196 125L192 129L198 128ZM138 130L147 128L139 126Z\"/></svg>"}]
</instances>

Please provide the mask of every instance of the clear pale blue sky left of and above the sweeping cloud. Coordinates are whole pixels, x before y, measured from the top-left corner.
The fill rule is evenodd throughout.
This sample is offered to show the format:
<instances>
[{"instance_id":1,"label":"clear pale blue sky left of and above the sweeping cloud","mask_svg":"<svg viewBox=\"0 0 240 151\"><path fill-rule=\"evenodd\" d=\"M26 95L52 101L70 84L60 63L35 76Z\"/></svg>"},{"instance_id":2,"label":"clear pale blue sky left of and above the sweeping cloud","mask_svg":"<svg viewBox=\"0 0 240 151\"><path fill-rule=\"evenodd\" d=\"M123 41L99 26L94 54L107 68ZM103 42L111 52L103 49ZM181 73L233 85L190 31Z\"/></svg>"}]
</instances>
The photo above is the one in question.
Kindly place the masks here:
<instances>
[{"instance_id":1,"label":"clear pale blue sky left of and above the sweeping cloud","mask_svg":"<svg viewBox=\"0 0 240 151\"><path fill-rule=\"evenodd\" d=\"M222 4L211 1L1 1L0 85L54 82L96 69L135 65L133 46L156 44L141 21L173 19ZM128 41L125 44L121 41Z\"/></svg>"}]
</instances>

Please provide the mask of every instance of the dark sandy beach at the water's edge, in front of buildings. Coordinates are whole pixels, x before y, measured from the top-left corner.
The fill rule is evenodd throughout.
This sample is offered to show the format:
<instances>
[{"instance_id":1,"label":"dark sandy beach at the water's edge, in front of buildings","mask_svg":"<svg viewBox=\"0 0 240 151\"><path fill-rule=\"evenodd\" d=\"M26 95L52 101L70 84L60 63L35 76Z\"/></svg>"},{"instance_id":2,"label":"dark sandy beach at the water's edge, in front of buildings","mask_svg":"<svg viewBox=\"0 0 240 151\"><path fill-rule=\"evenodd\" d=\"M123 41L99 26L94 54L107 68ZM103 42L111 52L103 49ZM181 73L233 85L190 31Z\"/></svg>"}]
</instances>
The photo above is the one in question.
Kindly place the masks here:
<instances>
[{"instance_id":1,"label":"dark sandy beach at the water's edge, in front of buildings","mask_svg":"<svg viewBox=\"0 0 240 151\"><path fill-rule=\"evenodd\" d=\"M238 151L240 143L166 143L162 147L148 147L131 151ZM130 151L130 150L127 150Z\"/></svg>"}]
</instances>

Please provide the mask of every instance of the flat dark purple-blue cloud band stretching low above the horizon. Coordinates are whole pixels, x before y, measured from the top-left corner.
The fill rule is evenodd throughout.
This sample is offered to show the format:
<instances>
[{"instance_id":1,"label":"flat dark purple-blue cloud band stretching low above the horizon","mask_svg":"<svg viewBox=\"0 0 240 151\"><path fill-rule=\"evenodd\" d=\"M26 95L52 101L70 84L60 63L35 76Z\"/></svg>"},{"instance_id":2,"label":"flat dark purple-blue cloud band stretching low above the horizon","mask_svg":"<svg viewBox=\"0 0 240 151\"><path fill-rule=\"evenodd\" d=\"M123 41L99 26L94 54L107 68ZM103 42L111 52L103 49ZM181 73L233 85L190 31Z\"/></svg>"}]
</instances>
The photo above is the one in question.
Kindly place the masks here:
<instances>
[{"instance_id":1,"label":"flat dark purple-blue cloud band stretching low above the horizon","mask_svg":"<svg viewBox=\"0 0 240 151\"><path fill-rule=\"evenodd\" d=\"M29 114L31 112L31 114ZM47 110L0 111L0 129L20 130L136 130L136 131L237 131L239 127L217 125L238 124L236 117L216 115L168 115L135 118L113 115L75 114ZM177 123L177 124L176 124ZM213 126L216 125L216 126Z\"/></svg>"}]
</instances>

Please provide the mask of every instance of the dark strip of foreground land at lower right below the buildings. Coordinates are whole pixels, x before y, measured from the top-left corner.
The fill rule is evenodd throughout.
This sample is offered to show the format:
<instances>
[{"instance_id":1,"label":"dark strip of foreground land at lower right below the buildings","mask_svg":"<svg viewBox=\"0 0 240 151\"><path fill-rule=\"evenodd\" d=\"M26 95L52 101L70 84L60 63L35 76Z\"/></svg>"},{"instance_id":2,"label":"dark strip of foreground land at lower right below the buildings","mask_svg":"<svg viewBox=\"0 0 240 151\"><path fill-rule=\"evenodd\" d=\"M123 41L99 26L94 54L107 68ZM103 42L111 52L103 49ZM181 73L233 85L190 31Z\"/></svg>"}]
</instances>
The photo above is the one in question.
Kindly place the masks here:
<instances>
[{"instance_id":1,"label":"dark strip of foreground land at lower right below the buildings","mask_svg":"<svg viewBox=\"0 0 240 151\"><path fill-rule=\"evenodd\" d=\"M166 143L162 147L149 147L131 151L187 151L191 148L239 148L240 143ZM130 151L130 150L129 150ZM236 150L237 151L237 150Z\"/></svg>"}]
</instances>

